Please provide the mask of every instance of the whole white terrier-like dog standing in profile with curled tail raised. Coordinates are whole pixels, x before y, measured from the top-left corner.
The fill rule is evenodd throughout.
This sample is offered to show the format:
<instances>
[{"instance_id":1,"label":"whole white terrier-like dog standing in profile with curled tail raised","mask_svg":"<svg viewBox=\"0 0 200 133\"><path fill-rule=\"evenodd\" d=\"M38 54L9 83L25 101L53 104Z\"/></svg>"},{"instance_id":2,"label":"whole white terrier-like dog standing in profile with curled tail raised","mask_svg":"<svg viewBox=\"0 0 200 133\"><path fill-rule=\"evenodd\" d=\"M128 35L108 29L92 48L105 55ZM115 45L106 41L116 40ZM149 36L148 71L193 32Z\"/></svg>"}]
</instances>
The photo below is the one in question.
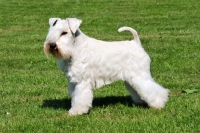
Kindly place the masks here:
<instances>
[{"instance_id":1,"label":"whole white terrier-like dog standing in profile with curled tail raised","mask_svg":"<svg viewBox=\"0 0 200 133\"><path fill-rule=\"evenodd\" d=\"M69 79L68 93L72 97L70 115L88 113L92 107L93 89L116 80L123 80L135 103L163 108L169 90L151 77L150 58L142 48L137 32L128 30L132 41L105 42L86 36L79 29L77 18L49 19L49 33L44 52L58 59L59 68Z\"/></svg>"}]
</instances>

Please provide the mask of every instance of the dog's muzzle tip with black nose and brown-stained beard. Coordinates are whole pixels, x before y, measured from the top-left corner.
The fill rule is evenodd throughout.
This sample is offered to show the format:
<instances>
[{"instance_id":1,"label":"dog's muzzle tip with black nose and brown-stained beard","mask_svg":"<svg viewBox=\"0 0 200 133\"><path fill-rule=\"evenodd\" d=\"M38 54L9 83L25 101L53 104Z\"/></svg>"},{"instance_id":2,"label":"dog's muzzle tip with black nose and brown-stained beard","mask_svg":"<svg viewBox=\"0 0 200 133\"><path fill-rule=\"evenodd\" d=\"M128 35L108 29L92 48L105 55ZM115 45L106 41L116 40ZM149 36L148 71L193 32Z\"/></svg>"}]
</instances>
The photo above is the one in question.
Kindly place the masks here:
<instances>
[{"instance_id":1,"label":"dog's muzzle tip with black nose and brown-stained beard","mask_svg":"<svg viewBox=\"0 0 200 133\"><path fill-rule=\"evenodd\" d=\"M60 50L58 46L55 43L47 43L44 46L44 53L46 55L53 55L55 58L61 59L62 54L60 53Z\"/></svg>"}]
</instances>

